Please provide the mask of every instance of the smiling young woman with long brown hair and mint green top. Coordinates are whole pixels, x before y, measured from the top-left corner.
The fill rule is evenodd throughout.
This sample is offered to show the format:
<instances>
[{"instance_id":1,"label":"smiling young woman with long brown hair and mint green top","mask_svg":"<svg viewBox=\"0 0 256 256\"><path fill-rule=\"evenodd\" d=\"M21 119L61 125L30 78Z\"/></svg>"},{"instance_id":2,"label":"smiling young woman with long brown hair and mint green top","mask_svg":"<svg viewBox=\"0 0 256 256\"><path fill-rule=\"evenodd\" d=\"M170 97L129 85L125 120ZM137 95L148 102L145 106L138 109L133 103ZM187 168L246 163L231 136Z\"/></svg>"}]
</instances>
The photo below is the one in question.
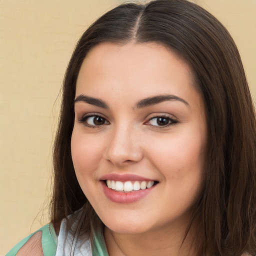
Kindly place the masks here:
<instances>
[{"instance_id":1,"label":"smiling young woman with long brown hair and mint green top","mask_svg":"<svg viewBox=\"0 0 256 256\"><path fill-rule=\"evenodd\" d=\"M226 29L186 0L120 5L66 70L51 224L7 255L255 255L255 148Z\"/></svg>"}]
</instances>

